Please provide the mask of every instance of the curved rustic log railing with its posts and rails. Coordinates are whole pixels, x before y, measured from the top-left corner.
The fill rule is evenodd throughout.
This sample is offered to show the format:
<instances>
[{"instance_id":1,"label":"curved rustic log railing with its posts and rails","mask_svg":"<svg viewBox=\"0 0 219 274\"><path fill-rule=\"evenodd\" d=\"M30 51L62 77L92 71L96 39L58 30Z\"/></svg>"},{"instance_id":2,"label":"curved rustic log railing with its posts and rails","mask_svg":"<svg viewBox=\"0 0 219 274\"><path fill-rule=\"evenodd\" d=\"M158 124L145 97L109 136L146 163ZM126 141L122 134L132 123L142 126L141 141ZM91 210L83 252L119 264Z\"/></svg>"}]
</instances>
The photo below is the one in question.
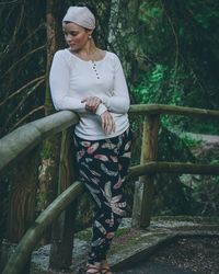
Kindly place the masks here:
<instances>
[{"instance_id":1,"label":"curved rustic log railing with its posts and rails","mask_svg":"<svg viewBox=\"0 0 219 274\"><path fill-rule=\"evenodd\" d=\"M174 172L181 174L219 174L219 164L158 162L157 152L160 115L169 114L189 115L198 117L219 117L219 111L157 104L131 105L129 113L131 115L141 114L146 116L146 119L143 122L140 164L131 167L129 169L129 176L140 176L140 180L136 183L135 189L132 226L147 227L150 225L153 196L153 178L155 173ZM23 273L23 270L28 262L32 250L43 237L46 228L48 228L83 191L83 186L80 182L76 181L73 184L71 184L71 176L68 173L68 132L69 128L76 123L78 123L77 114L69 111L62 111L24 125L0 140L0 174L2 175L5 174L5 172L11 167L22 161L21 159L31 159L30 157L33 158L35 156L35 152L33 153L33 151L35 151L35 148L44 139L62 132L59 182L61 183L62 178L65 178L65 187L67 187L66 190L65 187L61 187L62 192L60 193L60 195L35 220L33 220L33 206L31 207L32 226L27 229L27 227L23 225L21 230L23 230L23 233L24 231L26 232L24 236L21 233L23 237L21 237L15 252L10 256L5 267L3 269L3 274ZM28 161L26 161L25 163L27 164ZM35 162L35 168L38 168L37 162ZM25 180L27 181L27 184L30 184L28 180L31 180L31 184L36 184L36 180L33 181L33 178L25 178ZM147 190L145 187L146 184ZM24 190L24 193L22 193L20 198L24 198L25 195L28 195L30 199L30 187L28 192ZM18 196L19 194L16 194L16 202ZM34 201L34 197L32 197L32 199ZM31 216L28 208L26 208L26 210L27 212L25 214ZM13 220L11 221L11 224L13 225ZM73 228L71 230L71 233L72 231ZM9 240L11 239L13 239L13 237L11 237ZM68 264L67 261L66 263Z\"/></svg>"}]
</instances>

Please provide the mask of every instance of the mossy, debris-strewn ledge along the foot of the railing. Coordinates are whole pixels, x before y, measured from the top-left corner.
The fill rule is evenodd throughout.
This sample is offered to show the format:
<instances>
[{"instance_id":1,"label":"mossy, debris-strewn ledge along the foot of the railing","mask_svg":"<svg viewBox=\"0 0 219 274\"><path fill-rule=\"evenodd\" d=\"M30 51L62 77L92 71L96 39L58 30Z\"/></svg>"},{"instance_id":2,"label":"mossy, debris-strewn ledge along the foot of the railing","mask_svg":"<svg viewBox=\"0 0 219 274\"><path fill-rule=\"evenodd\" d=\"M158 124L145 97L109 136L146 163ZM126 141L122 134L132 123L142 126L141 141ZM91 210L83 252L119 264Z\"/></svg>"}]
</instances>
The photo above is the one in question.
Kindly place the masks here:
<instances>
[{"instance_id":1,"label":"mossy, debris-strewn ledge along the foot of the railing","mask_svg":"<svg viewBox=\"0 0 219 274\"><path fill-rule=\"evenodd\" d=\"M191 218L191 219L153 219L147 229L130 228L130 219L125 219L113 242L110 253L110 264L115 273L126 273L122 270L146 260L161 247L177 238L195 236L219 237L219 219ZM72 258L72 267L65 272L78 274L84 267L89 251L89 232L76 235ZM32 274L57 274L48 271L49 246L34 252L32 260ZM159 271L159 269L158 269ZM135 273L135 272L127 272ZM143 273L143 272L142 272ZM180 272L178 272L180 273Z\"/></svg>"}]
</instances>

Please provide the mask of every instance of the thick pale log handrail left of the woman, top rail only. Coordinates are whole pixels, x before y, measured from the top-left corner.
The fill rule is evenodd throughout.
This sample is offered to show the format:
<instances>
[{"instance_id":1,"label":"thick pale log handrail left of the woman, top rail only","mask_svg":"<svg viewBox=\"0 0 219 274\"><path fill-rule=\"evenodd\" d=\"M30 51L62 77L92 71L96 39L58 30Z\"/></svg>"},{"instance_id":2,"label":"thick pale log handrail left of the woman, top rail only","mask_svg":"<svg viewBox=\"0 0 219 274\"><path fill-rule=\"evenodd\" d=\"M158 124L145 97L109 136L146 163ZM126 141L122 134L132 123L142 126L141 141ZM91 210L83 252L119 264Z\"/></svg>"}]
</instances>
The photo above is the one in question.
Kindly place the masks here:
<instances>
[{"instance_id":1,"label":"thick pale log handrail left of the woman, top rail only","mask_svg":"<svg viewBox=\"0 0 219 274\"><path fill-rule=\"evenodd\" d=\"M78 123L78 115L62 111L19 127L0 139L0 173L4 173L43 139Z\"/></svg>"}]
</instances>

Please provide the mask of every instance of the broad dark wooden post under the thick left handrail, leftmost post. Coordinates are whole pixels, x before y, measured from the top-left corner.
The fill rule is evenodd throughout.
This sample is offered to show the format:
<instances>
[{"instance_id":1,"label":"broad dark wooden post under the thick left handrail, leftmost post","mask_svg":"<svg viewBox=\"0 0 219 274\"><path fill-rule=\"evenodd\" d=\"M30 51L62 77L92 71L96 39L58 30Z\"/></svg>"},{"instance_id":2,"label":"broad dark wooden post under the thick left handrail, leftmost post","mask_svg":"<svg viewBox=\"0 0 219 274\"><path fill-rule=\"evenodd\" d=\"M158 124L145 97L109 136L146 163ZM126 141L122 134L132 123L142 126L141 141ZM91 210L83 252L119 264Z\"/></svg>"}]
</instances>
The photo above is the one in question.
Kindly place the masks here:
<instances>
[{"instance_id":1,"label":"broad dark wooden post under the thick left handrail, leftmost post","mask_svg":"<svg viewBox=\"0 0 219 274\"><path fill-rule=\"evenodd\" d=\"M7 235L1 251L1 269L35 219L39 147L36 147L22 158L12 175ZM22 273L30 273L30 261Z\"/></svg>"}]
</instances>

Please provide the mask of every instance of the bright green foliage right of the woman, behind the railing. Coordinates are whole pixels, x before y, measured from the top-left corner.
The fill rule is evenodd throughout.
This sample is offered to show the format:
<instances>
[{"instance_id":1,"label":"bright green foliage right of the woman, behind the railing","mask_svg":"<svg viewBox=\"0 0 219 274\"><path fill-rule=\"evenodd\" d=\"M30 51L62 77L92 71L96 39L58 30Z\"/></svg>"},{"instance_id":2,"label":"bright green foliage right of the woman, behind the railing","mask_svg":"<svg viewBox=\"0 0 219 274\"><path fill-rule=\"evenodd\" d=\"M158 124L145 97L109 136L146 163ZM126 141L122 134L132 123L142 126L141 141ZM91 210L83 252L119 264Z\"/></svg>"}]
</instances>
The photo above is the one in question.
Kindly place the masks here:
<instances>
[{"instance_id":1,"label":"bright green foliage right of the woman, behind the railing","mask_svg":"<svg viewBox=\"0 0 219 274\"><path fill-rule=\"evenodd\" d=\"M218 3L206 1L142 1L139 10L140 36L135 50L139 70L131 91L135 103L161 103L218 109L219 12ZM218 135L218 121L183 116L161 117L159 160L196 162L191 149L200 141L182 130ZM134 122L134 127L140 122ZM137 136L141 136L139 130ZM135 138L137 141L139 138ZM139 141L138 141L139 142ZM140 146L140 144L139 144ZM136 151L139 151L135 148ZM137 157L134 157L137 158ZM212 187L212 190L211 190ZM200 203L207 196L199 184L191 190L177 175L157 178L154 214L215 215L216 202ZM210 195L217 196L211 182ZM210 197L209 195L209 197ZM199 199L197 199L197 196ZM207 198L204 198L207 201ZM214 198L212 198L214 201ZM215 206L214 206L215 204ZM205 207L208 208L205 210Z\"/></svg>"}]
</instances>

